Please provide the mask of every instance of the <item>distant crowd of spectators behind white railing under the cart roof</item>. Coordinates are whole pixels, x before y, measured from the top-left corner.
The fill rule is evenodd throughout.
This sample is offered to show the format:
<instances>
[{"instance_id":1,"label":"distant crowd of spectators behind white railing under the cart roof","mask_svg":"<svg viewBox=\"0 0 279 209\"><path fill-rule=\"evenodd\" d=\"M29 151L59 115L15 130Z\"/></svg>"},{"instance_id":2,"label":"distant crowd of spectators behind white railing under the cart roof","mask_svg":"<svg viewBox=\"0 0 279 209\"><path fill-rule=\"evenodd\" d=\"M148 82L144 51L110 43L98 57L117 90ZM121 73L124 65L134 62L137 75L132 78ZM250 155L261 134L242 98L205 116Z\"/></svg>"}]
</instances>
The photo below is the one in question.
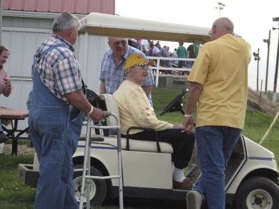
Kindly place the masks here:
<instances>
[{"instance_id":1,"label":"distant crowd of spectators behind white railing under the cart roof","mask_svg":"<svg viewBox=\"0 0 279 209\"><path fill-rule=\"evenodd\" d=\"M199 54L199 49L202 47L202 44L193 43L188 45L188 47L183 46L184 42L178 42L179 46L174 49L173 52L169 52L169 46L164 45L161 47L160 41L158 40L155 44L153 40L139 39L135 40L134 38L128 39L128 45L140 49L146 56L160 56L160 57L169 57L169 58L197 58ZM160 66L166 68L192 68L194 61L181 61L181 60L160 60ZM164 70L163 73L174 74L174 70ZM181 75L185 75L184 71L181 71Z\"/></svg>"}]
</instances>

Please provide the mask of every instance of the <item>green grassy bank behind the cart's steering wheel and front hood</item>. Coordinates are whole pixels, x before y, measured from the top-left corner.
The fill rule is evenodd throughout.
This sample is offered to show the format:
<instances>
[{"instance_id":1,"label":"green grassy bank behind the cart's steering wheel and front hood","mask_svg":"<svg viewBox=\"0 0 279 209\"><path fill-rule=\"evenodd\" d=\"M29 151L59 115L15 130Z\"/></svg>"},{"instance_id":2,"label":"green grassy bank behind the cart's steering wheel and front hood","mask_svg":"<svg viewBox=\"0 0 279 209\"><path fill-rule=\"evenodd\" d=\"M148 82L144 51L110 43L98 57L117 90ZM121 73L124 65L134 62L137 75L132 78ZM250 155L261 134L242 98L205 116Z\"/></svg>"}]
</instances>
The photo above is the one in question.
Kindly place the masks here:
<instances>
[{"instance_id":1,"label":"green grassy bank behind the cart's steering wheel and front hood","mask_svg":"<svg viewBox=\"0 0 279 209\"><path fill-rule=\"evenodd\" d=\"M166 113L163 116L160 116L160 112L163 111L165 106L172 101L176 95L179 95L181 91L176 89L167 89L167 88L153 88L152 89L152 99L153 99L153 106L156 112L156 116L163 121L168 121L169 123L174 124L182 124L183 123L183 114L180 112L172 112ZM186 97L183 98L183 109L186 108ZM193 112L195 117L195 111ZM271 114L264 114L259 111L252 111L248 109L246 111L246 120L243 130L243 135L247 138L251 139L259 143L262 139L266 131L269 129L273 121L274 116ZM273 129L266 137L262 146L268 148L276 155L276 160L279 163L279 122L278 120L273 125Z\"/></svg>"}]
</instances>

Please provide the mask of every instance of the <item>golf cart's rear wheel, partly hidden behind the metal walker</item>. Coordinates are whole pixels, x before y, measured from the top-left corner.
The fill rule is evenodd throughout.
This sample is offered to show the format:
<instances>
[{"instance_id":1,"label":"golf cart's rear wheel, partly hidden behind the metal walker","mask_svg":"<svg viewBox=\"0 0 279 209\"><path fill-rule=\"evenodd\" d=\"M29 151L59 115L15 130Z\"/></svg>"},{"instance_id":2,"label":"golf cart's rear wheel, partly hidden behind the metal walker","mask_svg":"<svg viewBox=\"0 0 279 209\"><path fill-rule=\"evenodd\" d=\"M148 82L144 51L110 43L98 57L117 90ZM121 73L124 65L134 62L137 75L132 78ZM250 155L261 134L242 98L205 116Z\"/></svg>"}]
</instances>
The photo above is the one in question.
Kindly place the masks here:
<instances>
[{"instance_id":1,"label":"golf cart's rear wheel, partly hidden behind the metal walker","mask_svg":"<svg viewBox=\"0 0 279 209\"><path fill-rule=\"evenodd\" d=\"M78 164L75 169L82 169L83 165ZM102 173L95 167L90 168L91 176L103 176ZM107 183L103 179L89 179L90 180L90 206L100 206L107 194ZM74 172L73 176L74 186L75 186L75 198L80 204L80 192L82 189L82 171ZM86 189L84 191L84 204L86 204Z\"/></svg>"}]
</instances>

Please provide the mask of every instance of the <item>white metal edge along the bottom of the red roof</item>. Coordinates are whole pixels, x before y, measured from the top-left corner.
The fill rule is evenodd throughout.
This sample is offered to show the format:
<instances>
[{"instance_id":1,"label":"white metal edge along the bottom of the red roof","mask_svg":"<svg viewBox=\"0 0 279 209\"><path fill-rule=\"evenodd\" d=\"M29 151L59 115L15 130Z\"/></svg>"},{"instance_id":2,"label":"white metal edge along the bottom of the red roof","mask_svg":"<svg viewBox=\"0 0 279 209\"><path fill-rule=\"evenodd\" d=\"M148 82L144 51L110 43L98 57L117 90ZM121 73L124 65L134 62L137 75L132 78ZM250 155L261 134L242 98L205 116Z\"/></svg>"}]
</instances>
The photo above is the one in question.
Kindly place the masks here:
<instances>
[{"instance_id":1,"label":"white metal edge along the bottom of the red roof","mask_svg":"<svg viewBox=\"0 0 279 209\"><path fill-rule=\"evenodd\" d=\"M59 13L40 13L40 12L27 12L20 10L3 10L2 15L6 17L36 17L36 18L49 18L54 19ZM77 18L82 19L86 15L73 14Z\"/></svg>"}]
</instances>

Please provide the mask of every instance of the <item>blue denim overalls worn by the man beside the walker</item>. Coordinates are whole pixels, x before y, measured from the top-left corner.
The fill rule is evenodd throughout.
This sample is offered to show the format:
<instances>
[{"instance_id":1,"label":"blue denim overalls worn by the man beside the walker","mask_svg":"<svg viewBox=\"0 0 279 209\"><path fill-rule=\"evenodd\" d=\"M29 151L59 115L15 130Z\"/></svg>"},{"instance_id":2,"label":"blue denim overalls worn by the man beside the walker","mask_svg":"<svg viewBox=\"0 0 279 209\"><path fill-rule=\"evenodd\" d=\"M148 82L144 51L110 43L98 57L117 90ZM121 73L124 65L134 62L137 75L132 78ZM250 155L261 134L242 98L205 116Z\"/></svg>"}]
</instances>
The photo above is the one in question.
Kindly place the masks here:
<instances>
[{"instance_id":1,"label":"blue denim overalls worn by the man beside the walker","mask_svg":"<svg viewBox=\"0 0 279 209\"><path fill-rule=\"evenodd\" d=\"M54 47L61 46L53 45L42 56ZM28 123L40 162L34 208L78 208L72 157L80 139L84 113L75 108L70 110L67 102L59 100L50 92L40 80L35 59L32 72L33 97Z\"/></svg>"}]
</instances>

